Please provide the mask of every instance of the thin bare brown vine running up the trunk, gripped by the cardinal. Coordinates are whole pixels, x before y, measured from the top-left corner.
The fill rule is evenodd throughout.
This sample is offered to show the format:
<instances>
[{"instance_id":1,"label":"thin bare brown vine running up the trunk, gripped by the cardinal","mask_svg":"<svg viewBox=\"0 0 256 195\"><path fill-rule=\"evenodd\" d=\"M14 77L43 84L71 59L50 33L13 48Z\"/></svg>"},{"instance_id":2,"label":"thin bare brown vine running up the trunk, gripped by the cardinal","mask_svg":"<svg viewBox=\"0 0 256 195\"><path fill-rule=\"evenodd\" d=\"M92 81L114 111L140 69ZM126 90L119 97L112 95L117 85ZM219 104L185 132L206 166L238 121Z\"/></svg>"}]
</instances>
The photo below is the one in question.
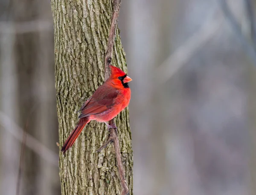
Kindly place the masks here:
<instances>
[{"instance_id":1,"label":"thin bare brown vine running up the trunk, gripped by the cardinal","mask_svg":"<svg viewBox=\"0 0 256 195\"><path fill-rule=\"evenodd\" d=\"M113 16L111 20L111 26L109 31L109 37L108 37L108 48L105 56L105 80L109 77L109 65L112 61L112 54L113 54L113 46L114 46L114 40L116 37L116 26L118 23L118 17L119 17L119 10L120 10L121 0L114 0L113 2ZM113 124L113 119L108 122L110 125ZM119 147L119 139L116 134L116 130L114 128L110 129L110 135L108 137L108 140L97 150L97 152L101 151L103 148L105 148L109 143L114 143L115 153L116 153L116 163L117 168L119 172L119 177L121 181L122 186L122 194L121 195L127 195L129 194L129 189L125 180L125 171L122 166L122 157L120 153L120 147Z\"/></svg>"}]
</instances>

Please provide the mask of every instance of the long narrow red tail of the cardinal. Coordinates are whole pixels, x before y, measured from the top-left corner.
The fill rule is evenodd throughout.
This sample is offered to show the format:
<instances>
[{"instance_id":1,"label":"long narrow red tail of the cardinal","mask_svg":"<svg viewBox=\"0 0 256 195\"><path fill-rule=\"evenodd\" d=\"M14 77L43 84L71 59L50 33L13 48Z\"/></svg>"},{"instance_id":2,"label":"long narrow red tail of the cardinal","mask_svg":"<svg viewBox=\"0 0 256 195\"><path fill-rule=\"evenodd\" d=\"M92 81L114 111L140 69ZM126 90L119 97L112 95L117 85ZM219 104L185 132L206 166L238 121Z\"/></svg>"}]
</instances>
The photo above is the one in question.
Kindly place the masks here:
<instances>
[{"instance_id":1,"label":"long narrow red tail of the cardinal","mask_svg":"<svg viewBox=\"0 0 256 195\"><path fill-rule=\"evenodd\" d=\"M63 154L65 154L67 152L67 150L70 149L71 146L73 146L73 144L76 141L76 138L78 138L78 136L81 133L81 131L83 130L84 126L88 122L90 122L88 117L84 117L79 120L78 124L76 125L76 128L72 131L70 136L65 141L63 147L61 148L61 152L63 152Z\"/></svg>"}]
</instances>

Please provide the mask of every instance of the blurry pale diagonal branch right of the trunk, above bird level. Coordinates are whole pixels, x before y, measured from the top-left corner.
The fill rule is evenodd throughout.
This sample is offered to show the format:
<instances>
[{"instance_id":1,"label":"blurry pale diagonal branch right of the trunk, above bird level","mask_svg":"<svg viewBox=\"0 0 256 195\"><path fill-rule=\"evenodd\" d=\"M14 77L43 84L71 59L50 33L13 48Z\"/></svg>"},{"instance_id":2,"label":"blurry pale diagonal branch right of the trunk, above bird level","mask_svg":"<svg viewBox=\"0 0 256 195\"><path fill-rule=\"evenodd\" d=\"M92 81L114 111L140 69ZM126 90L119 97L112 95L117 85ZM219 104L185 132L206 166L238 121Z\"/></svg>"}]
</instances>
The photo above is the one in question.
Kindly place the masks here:
<instances>
[{"instance_id":1,"label":"blurry pale diagonal branch right of the trunk, above bird level","mask_svg":"<svg viewBox=\"0 0 256 195\"><path fill-rule=\"evenodd\" d=\"M189 59L204 46L222 24L222 18L214 14L202 27L189 37L173 54L171 54L156 71L157 84L167 82Z\"/></svg>"}]
</instances>

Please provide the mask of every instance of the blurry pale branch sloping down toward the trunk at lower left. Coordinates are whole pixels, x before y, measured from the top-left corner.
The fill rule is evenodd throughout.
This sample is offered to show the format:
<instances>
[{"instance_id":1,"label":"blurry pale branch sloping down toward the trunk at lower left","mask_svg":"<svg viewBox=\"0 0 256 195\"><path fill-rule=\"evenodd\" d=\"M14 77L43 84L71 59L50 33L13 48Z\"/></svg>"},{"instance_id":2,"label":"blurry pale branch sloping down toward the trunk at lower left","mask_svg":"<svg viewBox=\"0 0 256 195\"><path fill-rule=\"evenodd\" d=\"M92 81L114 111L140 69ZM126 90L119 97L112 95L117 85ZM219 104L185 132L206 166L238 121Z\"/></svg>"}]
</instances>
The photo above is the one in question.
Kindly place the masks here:
<instances>
[{"instance_id":1,"label":"blurry pale branch sloping down toward the trunk at lower left","mask_svg":"<svg viewBox=\"0 0 256 195\"><path fill-rule=\"evenodd\" d=\"M5 130L12 134L20 142L23 141L23 129L19 127L15 122L6 116L5 113L0 111L0 125L3 126ZM33 138L31 135L26 135L26 146L37 153L41 158L44 158L50 164L58 167L58 154L52 152L43 144L41 144L37 139Z\"/></svg>"}]
</instances>

